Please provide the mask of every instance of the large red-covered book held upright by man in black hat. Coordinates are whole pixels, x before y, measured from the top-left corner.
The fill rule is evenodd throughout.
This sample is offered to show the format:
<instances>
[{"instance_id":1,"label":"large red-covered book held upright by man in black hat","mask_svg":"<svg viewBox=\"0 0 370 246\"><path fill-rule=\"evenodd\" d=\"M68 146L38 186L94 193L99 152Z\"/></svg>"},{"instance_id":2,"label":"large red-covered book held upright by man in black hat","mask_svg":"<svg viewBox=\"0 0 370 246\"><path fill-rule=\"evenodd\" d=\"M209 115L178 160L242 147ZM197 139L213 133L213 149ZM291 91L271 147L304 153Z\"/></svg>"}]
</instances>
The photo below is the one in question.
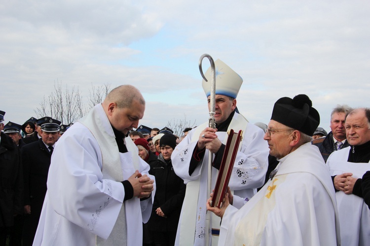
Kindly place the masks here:
<instances>
[{"instance_id":1,"label":"large red-covered book held upright by man in black hat","mask_svg":"<svg viewBox=\"0 0 370 246\"><path fill-rule=\"evenodd\" d=\"M234 161L236 154L238 153L239 143L242 140L242 130L238 133L231 129L228 132L228 137L226 141L225 151L222 156L222 161L220 165L219 175L217 176L215 191L212 196L211 207L222 207L223 197L227 191L227 185L230 181L232 167L234 166Z\"/></svg>"}]
</instances>

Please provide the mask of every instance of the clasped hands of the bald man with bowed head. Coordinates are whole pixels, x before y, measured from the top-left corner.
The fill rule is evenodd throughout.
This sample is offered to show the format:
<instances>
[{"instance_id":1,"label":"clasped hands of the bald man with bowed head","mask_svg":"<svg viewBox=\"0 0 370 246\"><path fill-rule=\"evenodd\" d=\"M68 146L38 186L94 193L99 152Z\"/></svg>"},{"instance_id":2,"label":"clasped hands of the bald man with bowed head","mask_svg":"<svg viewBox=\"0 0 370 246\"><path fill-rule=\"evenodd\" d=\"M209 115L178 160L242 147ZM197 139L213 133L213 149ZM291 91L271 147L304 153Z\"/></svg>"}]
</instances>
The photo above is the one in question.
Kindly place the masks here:
<instances>
[{"instance_id":1,"label":"clasped hands of the bald man with bowed head","mask_svg":"<svg viewBox=\"0 0 370 246\"><path fill-rule=\"evenodd\" d=\"M138 198L149 197L154 189L154 180L151 180L148 175L142 175L138 170L135 171L128 181L134 189L134 197Z\"/></svg>"}]
</instances>

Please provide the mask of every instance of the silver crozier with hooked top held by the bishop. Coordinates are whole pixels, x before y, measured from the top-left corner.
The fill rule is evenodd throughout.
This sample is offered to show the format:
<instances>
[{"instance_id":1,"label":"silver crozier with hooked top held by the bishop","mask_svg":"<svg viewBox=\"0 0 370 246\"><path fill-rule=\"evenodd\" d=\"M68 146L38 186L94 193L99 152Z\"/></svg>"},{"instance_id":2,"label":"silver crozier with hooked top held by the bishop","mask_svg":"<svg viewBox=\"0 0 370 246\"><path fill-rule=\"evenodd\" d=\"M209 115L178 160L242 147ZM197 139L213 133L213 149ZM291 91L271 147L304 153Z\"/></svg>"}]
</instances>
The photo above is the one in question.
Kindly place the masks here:
<instances>
[{"instance_id":1,"label":"silver crozier with hooked top held by the bishop","mask_svg":"<svg viewBox=\"0 0 370 246\"><path fill-rule=\"evenodd\" d=\"M203 79L208 82L207 78L204 76L203 69L202 69L202 61L203 58L208 58L211 62L211 98L210 98L210 109L209 109L209 122L208 126L212 128L216 128L215 122L215 114L216 114L216 69L215 69L215 62L213 61L212 57L208 54L203 54L199 58L199 71L202 75ZM211 179L212 179L212 157L213 154L208 151L208 180L207 180L207 199L211 196ZM210 224L211 224L211 213L209 211L206 212L206 246L209 246L209 238L210 238Z\"/></svg>"}]
</instances>

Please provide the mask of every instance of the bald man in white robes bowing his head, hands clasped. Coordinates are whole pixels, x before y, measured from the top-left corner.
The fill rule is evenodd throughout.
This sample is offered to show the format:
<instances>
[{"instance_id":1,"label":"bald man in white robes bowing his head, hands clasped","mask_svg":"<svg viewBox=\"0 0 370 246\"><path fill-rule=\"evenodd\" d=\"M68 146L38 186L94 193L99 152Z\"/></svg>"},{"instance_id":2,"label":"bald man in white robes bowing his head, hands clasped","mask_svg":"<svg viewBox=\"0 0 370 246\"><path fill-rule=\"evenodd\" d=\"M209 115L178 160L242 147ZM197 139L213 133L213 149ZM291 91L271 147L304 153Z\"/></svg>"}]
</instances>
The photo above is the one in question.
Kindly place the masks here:
<instances>
[{"instance_id":1,"label":"bald man in white robes bowing his head, hands clasped","mask_svg":"<svg viewBox=\"0 0 370 246\"><path fill-rule=\"evenodd\" d=\"M117 87L58 140L34 245L142 246L154 177L125 135L144 111L138 89Z\"/></svg>"}]
</instances>

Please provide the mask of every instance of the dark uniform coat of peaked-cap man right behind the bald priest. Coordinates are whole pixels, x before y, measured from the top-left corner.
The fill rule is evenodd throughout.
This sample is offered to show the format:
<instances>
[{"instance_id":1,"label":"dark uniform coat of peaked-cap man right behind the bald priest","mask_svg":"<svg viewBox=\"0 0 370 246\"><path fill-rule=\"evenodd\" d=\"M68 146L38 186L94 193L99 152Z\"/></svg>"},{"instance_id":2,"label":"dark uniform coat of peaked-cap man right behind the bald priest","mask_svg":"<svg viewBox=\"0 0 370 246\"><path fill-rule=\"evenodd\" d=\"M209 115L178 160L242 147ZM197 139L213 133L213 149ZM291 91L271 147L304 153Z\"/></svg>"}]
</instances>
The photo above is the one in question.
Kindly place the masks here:
<instances>
[{"instance_id":1,"label":"dark uniform coat of peaked-cap man right behind the bald priest","mask_svg":"<svg viewBox=\"0 0 370 246\"><path fill-rule=\"evenodd\" d=\"M51 154L42 139L22 147L24 173L24 204L31 205L31 215L25 216L23 244L30 245L35 237L42 204L46 195L47 174Z\"/></svg>"}]
</instances>

